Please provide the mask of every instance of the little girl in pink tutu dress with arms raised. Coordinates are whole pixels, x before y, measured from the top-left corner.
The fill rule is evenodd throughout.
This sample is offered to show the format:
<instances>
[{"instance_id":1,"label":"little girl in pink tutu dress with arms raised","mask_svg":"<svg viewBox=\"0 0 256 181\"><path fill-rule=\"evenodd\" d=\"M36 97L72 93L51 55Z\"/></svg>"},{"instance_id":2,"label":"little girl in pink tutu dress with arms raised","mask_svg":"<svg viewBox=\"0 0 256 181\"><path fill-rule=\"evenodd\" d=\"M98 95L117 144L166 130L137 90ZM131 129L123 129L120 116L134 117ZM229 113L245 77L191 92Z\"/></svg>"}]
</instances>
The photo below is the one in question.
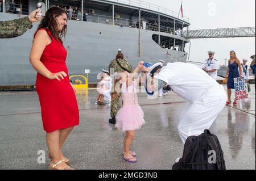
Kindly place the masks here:
<instances>
[{"instance_id":1,"label":"little girl in pink tutu dress with arms raised","mask_svg":"<svg viewBox=\"0 0 256 181\"><path fill-rule=\"evenodd\" d=\"M117 116L115 116L117 119L115 127L122 132L126 132L125 139L123 141L123 159L130 163L137 162L136 154L134 151L130 151L131 142L135 136L134 131L136 129L140 129L142 125L145 124L143 119L144 113L138 104L136 91L136 87L141 82L141 77L134 80L135 75L138 70L142 68L143 64L143 61L139 62L137 68L131 75L129 75L127 71L123 71L123 77L119 81L122 92L123 107L118 111Z\"/></svg>"}]
</instances>

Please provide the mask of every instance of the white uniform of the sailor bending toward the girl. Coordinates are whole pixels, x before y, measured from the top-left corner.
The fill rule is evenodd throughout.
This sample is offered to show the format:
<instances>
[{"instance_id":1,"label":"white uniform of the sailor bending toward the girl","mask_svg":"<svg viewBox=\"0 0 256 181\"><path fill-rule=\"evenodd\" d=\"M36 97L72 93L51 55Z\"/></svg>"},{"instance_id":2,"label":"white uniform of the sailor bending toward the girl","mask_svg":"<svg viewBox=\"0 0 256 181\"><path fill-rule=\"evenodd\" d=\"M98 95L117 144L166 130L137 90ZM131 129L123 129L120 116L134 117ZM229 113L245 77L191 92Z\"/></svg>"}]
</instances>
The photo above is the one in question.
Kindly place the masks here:
<instances>
[{"instance_id":1,"label":"white uniform of the sailor bending toward the girl","mask_svg":"<svg viewBox=\"0 0 256 181\"><path fill-rule=\"evenodd\" d=\"M209 129L226 103L224 87L193 64L168 63L155 78L189 102L179 116L179 134L183 144L189 136L199 136Z\"/></svg>"}]
</instances>

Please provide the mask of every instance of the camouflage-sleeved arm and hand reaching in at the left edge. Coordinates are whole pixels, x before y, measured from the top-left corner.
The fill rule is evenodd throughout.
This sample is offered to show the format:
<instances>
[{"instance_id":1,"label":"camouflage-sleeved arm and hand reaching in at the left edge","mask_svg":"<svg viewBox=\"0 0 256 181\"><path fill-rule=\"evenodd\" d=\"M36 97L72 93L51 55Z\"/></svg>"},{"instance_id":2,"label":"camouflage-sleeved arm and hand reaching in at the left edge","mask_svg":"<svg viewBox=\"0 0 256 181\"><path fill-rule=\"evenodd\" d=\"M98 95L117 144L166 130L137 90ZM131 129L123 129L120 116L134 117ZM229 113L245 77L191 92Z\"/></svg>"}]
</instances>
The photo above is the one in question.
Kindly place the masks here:
<instances>
[{"instance_id":1,"label":"camouflage-sleeved arm and hand reaching in at the left edge","mask_svg":"<svg viewBox=\"0 0 256 181\"><path fill-rule=\"evenodd\" d=\"M32 23L41 19L40 11L40 9L36 9L26 17L0 22L0 38L7 39L23 35L24 32L32 28Z\"/></svg>"}]
</instances>

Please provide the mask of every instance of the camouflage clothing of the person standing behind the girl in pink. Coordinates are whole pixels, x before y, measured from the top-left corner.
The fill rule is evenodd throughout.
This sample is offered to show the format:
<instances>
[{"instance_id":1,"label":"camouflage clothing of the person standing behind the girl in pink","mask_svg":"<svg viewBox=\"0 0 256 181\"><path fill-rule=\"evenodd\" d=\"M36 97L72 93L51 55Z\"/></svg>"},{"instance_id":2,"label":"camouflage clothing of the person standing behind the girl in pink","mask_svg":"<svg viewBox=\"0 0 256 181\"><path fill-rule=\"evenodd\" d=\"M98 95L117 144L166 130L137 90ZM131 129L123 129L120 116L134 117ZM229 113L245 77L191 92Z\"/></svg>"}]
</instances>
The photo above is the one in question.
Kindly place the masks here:
<instances>
[{"instance_id":1,"label":"camouflage clothing of the person standing behind the girl in pink","mask_svg":"<svg viewBox=\"0 0 256 181\"><path fill-rule=\"evenodd\" d=\"M129 70L130 73L133 72L133 68L131 67L131 64L128 61L122 60L122 59L118 59L118 61L120 62L121 66L123 68L126 68L127 70ZM109 65L109 72L110 72L110 69L114 69L115 73L118 73L118 72L123 70L117 64L117 62L115 60L112 60L112 62L110 63L110 65ZM113 81L114 81L114 79L113 79ZM114 83L113 83L112 90L113 89L114 89ZM118 111L118 101L119 101L119 98L121 96L121 92L118 94L116 99L113 98L113 94L111 96L112 96L112 100L111 100L111 113L110 113L110 116L111 117L115 117L117 115L117 111Z\"/></svg>"}]
</instances>

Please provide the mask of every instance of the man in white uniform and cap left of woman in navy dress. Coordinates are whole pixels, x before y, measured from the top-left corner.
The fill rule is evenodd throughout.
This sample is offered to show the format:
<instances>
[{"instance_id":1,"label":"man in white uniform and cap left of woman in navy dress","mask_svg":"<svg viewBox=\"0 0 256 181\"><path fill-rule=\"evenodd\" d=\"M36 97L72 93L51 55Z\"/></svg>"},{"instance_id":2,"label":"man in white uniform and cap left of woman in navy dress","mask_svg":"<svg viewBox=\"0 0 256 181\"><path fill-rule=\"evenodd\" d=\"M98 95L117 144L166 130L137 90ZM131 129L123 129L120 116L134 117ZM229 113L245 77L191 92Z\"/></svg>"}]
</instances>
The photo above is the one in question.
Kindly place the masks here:
<instances>
[{"instance_id":1,"label":"man in white uniform and cap left of woman in navy dress","mask_svg":"<svg viewBox=\"0 0 256 181\"><path fill-rule=\"evenodd\" d=\"M218 62L214 58L215 52L209 51L209 58L205 60L203 70L210 75L215 81L218 78Z\"/></svg>"}]
</instances>

